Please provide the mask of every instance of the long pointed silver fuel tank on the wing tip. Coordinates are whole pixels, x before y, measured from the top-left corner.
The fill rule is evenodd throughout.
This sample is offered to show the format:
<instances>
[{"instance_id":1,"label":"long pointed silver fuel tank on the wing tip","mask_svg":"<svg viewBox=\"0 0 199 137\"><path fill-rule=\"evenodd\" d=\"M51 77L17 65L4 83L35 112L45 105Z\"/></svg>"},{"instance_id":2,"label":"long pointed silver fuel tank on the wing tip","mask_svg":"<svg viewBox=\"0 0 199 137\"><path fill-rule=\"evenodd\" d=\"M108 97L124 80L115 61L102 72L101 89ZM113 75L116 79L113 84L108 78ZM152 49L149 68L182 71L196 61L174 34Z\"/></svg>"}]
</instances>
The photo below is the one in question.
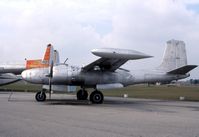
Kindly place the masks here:
<instances>
[{"instance_id":1,"label":"long pointed silver fuel tank on the wing tip","mask_svg":"<svg viewBox=\"0 0 199 137\"><path fill-rule=\"evenodd\" d=\"M136 59L152 57L150 55L147 55L139 51L127 50L127 49L101 48L101 49L93 49L91 52L99 57L114 58L114 59L136 60Z\"/></svg>"}]
</instances>

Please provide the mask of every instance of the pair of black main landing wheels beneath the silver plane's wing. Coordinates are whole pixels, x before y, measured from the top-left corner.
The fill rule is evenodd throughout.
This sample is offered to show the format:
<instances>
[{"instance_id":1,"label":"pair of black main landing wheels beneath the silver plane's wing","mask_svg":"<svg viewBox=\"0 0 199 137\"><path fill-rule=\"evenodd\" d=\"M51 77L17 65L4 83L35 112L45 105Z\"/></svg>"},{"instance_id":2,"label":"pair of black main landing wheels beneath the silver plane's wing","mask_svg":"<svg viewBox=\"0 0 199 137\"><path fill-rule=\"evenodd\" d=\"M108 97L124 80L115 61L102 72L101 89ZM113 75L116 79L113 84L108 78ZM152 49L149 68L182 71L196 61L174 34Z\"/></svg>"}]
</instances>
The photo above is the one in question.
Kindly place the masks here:
<instances>
[{"instance_id":1,"label":"pair of black main landing wheels beneath the silver plane's wing","mask_svg":"<svg viewBox=\"0 0 199 137\"><path fill-rule=\"evenodd\" d=\"M87 100L88 92L85 89L80 89L77 92L77 100ZM89 100L93 104L102 104L104 101L104 95L102 92L95 90L90 94Z\"/></svg>"}]
</instances>

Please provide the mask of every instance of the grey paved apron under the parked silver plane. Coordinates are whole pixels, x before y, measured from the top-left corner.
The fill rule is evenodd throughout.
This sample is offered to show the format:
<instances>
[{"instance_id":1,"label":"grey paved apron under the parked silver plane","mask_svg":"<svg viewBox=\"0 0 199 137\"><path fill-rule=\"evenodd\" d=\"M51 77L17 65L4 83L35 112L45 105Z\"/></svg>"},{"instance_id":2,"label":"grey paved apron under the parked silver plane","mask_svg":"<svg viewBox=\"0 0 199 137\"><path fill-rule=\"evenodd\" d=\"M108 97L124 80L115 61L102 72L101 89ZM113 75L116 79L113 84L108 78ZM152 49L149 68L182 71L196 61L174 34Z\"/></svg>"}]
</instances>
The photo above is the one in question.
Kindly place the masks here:
<instances>
[{"instance_id":1,"label":"grey paved apron under the parked silver plane","mask_svg":"<svg viewBox=\"0 0 199 137\"><path fill-rule=\"evenodd\" d=\"M199 102L0 92L0 137L199 137ZM9 98L10 97L10 98Z\"/></svg>"}]
</instances>

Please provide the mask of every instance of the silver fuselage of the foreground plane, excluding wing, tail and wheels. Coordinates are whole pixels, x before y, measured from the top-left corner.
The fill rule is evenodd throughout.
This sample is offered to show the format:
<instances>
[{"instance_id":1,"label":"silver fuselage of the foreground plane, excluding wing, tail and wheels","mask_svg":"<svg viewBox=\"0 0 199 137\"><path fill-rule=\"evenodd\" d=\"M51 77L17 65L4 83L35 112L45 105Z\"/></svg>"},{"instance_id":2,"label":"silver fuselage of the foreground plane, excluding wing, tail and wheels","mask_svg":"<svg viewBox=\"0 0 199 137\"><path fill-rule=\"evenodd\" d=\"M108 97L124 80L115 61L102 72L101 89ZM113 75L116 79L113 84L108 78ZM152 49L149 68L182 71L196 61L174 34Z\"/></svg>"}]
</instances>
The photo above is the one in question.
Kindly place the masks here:
<instances>
[{"instance_id":1,"label":"silver fuselage of the foreground plane, excluding wing, tail and wheels","mask_svg":"<svg viewBox=\"0 0 199 137\"><path fill-rule=\"evenodd\" d=\"M23 79L35 84L48 84L48 68L26 70L22 73ZM171 75L158 70L154 71L127 71L118 69L115 72L101 70L84 72L80 67L59 65L53 67L52 84L77 85L83 87L96 87L97 85L121 84L128 86L139 83L171 82L188 77L189 75Z\"/></svg>"}]
</instances>

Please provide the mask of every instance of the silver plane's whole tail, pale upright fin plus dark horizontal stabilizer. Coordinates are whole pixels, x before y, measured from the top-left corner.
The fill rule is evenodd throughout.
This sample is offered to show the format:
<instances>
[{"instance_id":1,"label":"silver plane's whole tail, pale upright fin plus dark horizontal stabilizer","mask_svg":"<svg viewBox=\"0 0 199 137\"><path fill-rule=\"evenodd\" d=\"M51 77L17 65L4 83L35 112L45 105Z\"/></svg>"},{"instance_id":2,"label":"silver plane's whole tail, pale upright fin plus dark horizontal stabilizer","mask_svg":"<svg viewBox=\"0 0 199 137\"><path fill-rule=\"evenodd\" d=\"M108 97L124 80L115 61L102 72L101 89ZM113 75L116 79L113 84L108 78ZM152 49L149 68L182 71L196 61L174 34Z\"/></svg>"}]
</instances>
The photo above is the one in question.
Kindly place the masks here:
<instances>
[{"instance_id":1,"label":"silver plane's whole tail, pale upright fin plus dark horizontal stabilizer","mask_svg":"<svg viewBox=\"0 0 199 137\"><path fill-rule=\"evenodd\" d=\"M168 74L186 74L196 65L187 65L187 54L185 43L179 40L167 41L162 64L158 69Z\"/></svg>"}]
</instances>

